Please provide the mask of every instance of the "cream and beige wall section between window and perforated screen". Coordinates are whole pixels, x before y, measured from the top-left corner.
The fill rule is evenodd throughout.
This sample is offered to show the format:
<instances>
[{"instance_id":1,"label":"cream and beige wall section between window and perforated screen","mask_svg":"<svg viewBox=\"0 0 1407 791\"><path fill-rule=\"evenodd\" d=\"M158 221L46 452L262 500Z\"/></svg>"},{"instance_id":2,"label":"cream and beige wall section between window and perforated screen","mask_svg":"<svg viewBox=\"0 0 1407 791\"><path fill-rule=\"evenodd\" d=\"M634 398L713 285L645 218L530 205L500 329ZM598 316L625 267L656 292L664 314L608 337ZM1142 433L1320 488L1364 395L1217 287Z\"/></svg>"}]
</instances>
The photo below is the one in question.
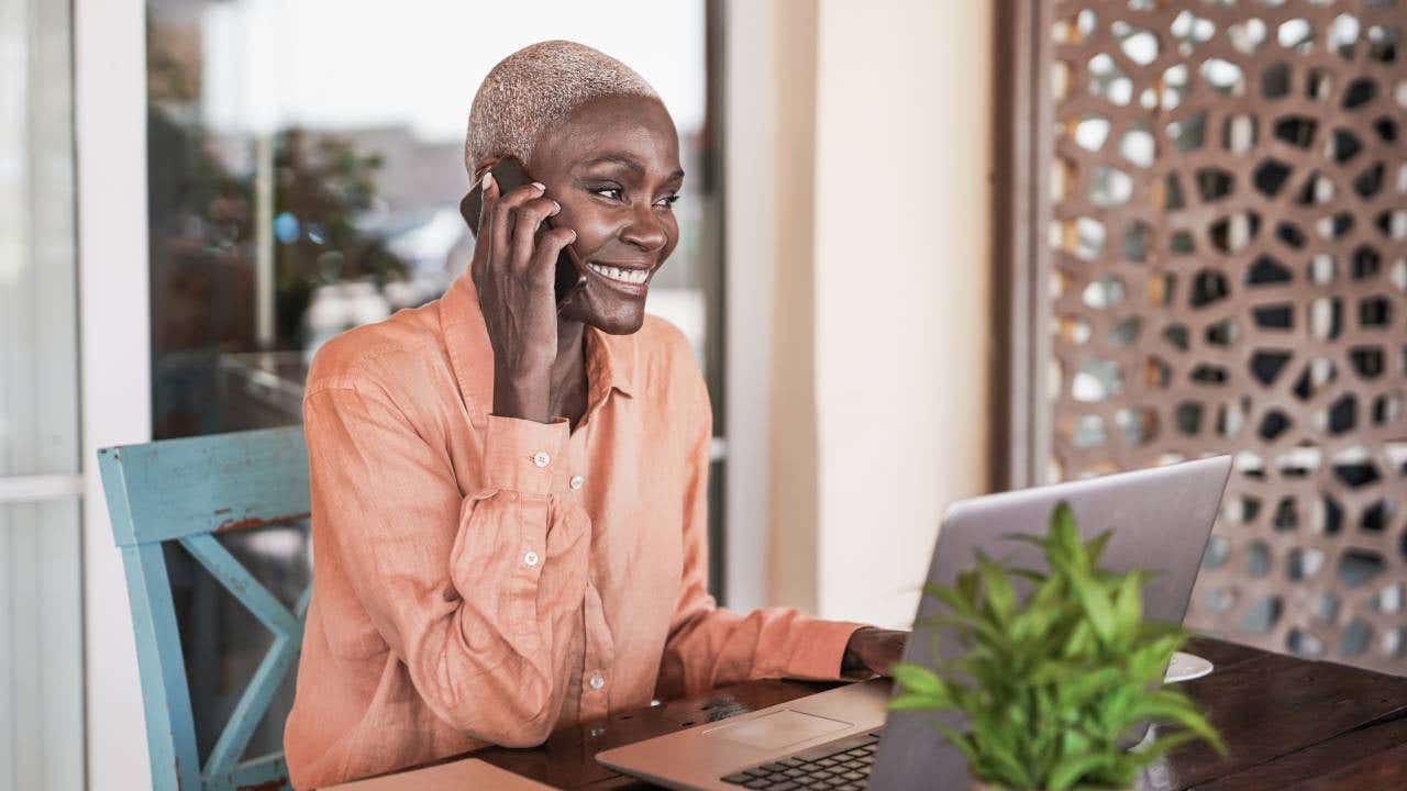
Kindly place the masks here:
<instances>
[{"instance_id":1,"label":"cream and beige wall section between window and perforated screen","mask_svg":"<svg viewBox=\"0 0 1407 791\"><path fill-rule=\"evenodd\" d=\"M943 510L988 488L991 20L778 4L771 602L908 625Z\"/></svg>"}]
</instances>

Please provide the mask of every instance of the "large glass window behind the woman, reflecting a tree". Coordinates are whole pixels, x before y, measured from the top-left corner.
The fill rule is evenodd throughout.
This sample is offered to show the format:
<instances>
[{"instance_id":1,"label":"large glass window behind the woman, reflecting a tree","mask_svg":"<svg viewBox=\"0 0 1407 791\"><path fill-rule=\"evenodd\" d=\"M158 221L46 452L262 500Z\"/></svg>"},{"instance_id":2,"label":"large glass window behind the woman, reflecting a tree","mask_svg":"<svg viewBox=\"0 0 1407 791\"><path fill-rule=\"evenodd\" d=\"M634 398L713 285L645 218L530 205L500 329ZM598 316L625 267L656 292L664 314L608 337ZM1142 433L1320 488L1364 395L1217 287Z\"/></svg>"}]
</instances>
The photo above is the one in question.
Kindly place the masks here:
<instances>
[{"instance_id":1,"label":"large glass window behind the woman, reflecting a tree","mask_svg":"<svg viewBox=\"0 0 1407 791\"><path fill-rule=\"evenodd\" d=\"M136 7L145 8L138 93L146 96L149 186L139 203L151 210L151 242L131 253L148 256L132 265L138 272L121 277L142 274L145 291L149 274L149 325L145 310L134 318L151 338L151 438L300 424L321 343L440 297L474 246L459 213L474 90L504 55L566 35L647 73L678 124L689 183L677 214L687 231L650 277L646 310L684 331L722 393L722 197L708 173L720 160L708 118L722 80L705 56L722 21L702 0L620 0L611 13L571 0ZM725 511L722 422L711 470L715 528ZM221 540L262 581L301 590L307 533ZM722 552L709 556L719 563ZM204 756L257 670L267 632L183 553L167 562ZM290 681L252 750L281 742L291 704Z\"/></svg>"}]
</instances>

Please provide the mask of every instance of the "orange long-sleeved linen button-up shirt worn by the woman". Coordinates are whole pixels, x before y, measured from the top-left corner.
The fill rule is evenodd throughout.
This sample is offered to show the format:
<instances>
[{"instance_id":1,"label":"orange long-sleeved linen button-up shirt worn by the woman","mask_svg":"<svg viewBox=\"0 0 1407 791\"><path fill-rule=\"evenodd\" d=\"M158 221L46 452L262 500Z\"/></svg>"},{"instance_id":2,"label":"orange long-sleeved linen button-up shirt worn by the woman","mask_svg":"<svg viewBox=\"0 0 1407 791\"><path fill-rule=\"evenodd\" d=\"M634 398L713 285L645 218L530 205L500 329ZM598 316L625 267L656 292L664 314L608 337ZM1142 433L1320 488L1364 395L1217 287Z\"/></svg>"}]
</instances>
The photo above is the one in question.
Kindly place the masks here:
<instances>
[{"instance_id":1,"label":"orange long-sleeved linen button-up shirt worn by the woman","mask_svg":"<svg viewBox=\"0 0 1407 791\"><path fill-rule=\"evenodd\" d=\"M575 431L490 414L467 276L318 352L295 787L537 745L654 697L839 677L855 624L708 593L712 412L684 335L651 317L585 343Z\"/></svg>"}]
</instances>

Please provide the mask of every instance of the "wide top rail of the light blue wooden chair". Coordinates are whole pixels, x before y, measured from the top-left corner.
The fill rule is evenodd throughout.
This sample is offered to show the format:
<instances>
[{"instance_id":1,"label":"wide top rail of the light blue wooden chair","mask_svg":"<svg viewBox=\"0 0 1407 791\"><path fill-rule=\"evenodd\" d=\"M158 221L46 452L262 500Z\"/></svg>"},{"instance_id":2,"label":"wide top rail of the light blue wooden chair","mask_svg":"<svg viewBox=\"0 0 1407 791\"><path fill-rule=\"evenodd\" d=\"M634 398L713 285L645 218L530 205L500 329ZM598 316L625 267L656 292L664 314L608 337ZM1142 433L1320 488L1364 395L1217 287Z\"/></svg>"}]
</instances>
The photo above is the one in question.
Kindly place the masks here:
<instances>
[{"instance_id":1,"label":"wide top rail of the light blue wooden chair","mask_svg":"<svg viewBox=\"0 0 1407 791\"><path fill-rule=\"evenodd\" d=\"M118 546L286 522L308 515L301 426L104 448L121 463L131 519Z\"/></svg>"}]
</instances>

